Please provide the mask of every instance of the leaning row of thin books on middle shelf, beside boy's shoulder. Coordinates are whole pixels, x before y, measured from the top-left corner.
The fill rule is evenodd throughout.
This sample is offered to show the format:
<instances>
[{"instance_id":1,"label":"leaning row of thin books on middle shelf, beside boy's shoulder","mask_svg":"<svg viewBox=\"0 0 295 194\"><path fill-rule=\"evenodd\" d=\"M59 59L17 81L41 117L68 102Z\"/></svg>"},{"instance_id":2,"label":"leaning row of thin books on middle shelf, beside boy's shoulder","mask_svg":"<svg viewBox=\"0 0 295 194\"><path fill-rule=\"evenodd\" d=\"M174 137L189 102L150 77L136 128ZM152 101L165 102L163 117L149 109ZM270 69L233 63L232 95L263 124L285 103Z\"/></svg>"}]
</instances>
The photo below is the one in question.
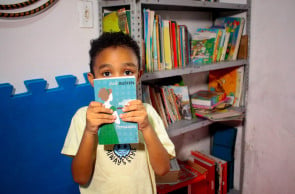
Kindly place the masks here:
<instances>
[{"instance_id":1,"label":"leaning row of thin books on middle shelf, beside boy's shoulder","mask_svg":"<svg viewBox=\"0 0 295 194\"><path fill-rule=\"evenodd\" d=\"M151 104L161 116L165 127L179 120L192 119L187 86L143 86L143 101Z\"/></svg>"}]
</instances>

